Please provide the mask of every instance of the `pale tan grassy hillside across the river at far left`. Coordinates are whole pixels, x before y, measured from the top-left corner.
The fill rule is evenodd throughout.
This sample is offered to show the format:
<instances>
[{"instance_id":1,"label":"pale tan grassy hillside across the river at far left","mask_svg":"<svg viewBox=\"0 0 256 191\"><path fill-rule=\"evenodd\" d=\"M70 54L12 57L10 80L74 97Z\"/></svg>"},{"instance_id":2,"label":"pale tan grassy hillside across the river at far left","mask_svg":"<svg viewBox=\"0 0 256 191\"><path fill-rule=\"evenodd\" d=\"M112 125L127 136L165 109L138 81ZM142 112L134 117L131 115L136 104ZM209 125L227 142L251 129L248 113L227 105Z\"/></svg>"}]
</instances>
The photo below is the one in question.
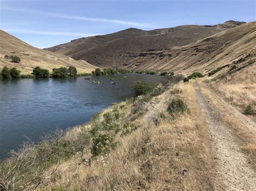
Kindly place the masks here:
<instances>
[{"instance_id":1,"label":"pale tan grassy hillside across the river at far left","mask_svg":"<svg viewBox=\"0 0 256 191\"><path fill-rule=\"evenodd\" d=\"M17 55L21 58L21 63L12 63L4 58L5 55ZM68 56L33 47L0 30L0 69L4 66L16 67L22 74L30 74L36 66L50 71L52 68L75 66L78 73L91 72L96 68L84 60L76 61Z\"/></svg>"}]
</instances>

